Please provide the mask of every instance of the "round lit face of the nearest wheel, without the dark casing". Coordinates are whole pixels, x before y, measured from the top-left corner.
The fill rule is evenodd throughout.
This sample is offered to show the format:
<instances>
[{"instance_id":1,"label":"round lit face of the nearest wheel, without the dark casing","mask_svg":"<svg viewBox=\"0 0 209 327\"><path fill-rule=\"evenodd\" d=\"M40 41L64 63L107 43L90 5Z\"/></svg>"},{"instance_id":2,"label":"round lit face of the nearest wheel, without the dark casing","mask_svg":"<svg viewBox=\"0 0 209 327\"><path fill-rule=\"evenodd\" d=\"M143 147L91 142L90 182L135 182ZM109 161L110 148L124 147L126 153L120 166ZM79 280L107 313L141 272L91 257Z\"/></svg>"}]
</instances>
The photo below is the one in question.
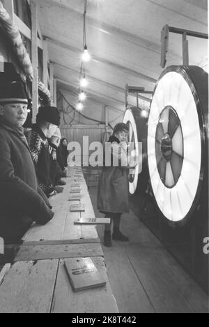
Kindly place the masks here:
<instances>
[{"instance_id":1,"label":"round lit face of the nearest wheel, without the dark casing","mask_svg":"<svg viewBox=\"0 0 209 327\"><path fill-rule=\"evenodd\" d=\"M153 193L170 221L183 220L201 173L201 129L192 90L180 73L158 82L148 120L148 166Z\"/></svg>"}]
</instances>

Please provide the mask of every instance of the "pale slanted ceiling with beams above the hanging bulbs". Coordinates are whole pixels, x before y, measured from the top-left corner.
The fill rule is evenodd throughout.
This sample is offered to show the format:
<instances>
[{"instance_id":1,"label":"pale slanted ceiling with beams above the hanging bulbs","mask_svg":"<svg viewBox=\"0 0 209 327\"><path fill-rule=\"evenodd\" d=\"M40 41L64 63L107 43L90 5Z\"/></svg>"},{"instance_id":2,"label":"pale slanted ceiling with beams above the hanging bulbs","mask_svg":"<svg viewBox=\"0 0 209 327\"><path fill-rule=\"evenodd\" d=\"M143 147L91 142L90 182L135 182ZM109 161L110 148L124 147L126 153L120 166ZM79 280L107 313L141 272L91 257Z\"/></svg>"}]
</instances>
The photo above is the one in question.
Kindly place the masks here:
<instances>
[{"instance_id":1,"label":"pale slanted ceiling with beams above the hanging bulbs","mask_svg":"<svg viewBox=\"0 0 209 327\"><path fill-rule=\"evenodd\" d=\"M75 96L83 47L84 0L38 0L39 23L54 62L58 87ZM162 73L162 27L208 32L207 0L88 0L88 99L124 111L125 84L153 91ZM208 59L206 40L189 37L189 64ZM167 66L182 64L181 36L171 34ZM141 94L148 106L150 94ZM133 96L130 105L136 103Z\"/></svg>"}]
</instances>

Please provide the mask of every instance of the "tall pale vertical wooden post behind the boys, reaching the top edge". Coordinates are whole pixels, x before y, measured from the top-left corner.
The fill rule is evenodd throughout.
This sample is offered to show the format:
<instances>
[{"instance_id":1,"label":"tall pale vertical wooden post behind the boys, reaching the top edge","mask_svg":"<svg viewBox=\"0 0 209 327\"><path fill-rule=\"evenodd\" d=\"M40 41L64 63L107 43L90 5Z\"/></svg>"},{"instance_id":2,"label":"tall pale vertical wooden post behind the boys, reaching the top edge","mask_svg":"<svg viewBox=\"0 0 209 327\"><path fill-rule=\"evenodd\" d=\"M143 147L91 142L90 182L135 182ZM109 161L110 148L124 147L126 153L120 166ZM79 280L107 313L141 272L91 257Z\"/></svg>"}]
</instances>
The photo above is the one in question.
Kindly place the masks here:
<instances>
[{"instance_id":1,"label":"tall pale vertical wooden post behind the boys, reaching the top edge","mask_svg":"<svg viewBox=\"0 0 209 327\"><path fill-rule=\"evenodd\" d=\"M38 113L38 10L37 10L37 1L31 0L31 52L32 52L32 64L34 71L33 78L33 115L32 121L36 122L36 115Z\"/></svg>"}]
</instances>

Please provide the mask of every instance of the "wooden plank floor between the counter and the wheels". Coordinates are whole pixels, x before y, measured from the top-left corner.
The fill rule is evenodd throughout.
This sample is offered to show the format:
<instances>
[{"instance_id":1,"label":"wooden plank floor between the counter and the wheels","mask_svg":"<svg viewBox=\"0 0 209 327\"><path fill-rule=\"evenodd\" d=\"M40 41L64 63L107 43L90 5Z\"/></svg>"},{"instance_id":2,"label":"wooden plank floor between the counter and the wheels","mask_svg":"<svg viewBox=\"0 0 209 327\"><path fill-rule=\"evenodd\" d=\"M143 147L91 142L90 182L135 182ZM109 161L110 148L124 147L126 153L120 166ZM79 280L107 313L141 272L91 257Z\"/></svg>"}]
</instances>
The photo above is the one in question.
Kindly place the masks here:
<instances>
[{"instance_id":1,"label":"wooden plank floor between the counter and the wheels","mask_svg":"<svg viewBox=\"0 0 209 327\"><path fill-rule=\"evenodd\" d=\"M90 187L96 217L97 187ZM111 289L120 313L208 313L208 296L130 212L121 231L130 242L103 247ZM98 227L103 239L104 227Z\"/></svg>"}]
</instances>

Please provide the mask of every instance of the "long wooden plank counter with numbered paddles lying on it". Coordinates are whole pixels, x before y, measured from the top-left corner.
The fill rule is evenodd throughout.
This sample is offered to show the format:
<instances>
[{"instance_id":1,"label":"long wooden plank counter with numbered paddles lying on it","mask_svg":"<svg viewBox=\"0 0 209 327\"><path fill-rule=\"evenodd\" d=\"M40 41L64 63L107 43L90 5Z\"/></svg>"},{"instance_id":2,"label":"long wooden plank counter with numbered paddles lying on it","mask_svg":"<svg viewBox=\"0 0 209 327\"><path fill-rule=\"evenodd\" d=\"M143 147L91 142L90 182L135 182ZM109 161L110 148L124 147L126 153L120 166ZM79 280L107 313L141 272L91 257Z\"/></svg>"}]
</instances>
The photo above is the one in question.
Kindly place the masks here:
<instances>
[{"instance_id":1,"label":"long wooden plank counter with numbered paddles lying on it","mask_svg":"<svg viewBox=\"0 0 209 327\"><path fill-rule=\"evenodd\" d=\"M22 313L117 313L98 233L95 226L74 225L80 217L95 217L82 175L81 203L85 212L70 212L70 187L77 168L70 168L63 194L51 198L55 217L45 226L34 224L25 236L16 261L0 286L0 312ZM58 242L63 241L63 242ZM63 266L63 259L91 257L106 286L75 293ZM68 260L68 259L65 259Z\"/></svg>"}]
</instances>

